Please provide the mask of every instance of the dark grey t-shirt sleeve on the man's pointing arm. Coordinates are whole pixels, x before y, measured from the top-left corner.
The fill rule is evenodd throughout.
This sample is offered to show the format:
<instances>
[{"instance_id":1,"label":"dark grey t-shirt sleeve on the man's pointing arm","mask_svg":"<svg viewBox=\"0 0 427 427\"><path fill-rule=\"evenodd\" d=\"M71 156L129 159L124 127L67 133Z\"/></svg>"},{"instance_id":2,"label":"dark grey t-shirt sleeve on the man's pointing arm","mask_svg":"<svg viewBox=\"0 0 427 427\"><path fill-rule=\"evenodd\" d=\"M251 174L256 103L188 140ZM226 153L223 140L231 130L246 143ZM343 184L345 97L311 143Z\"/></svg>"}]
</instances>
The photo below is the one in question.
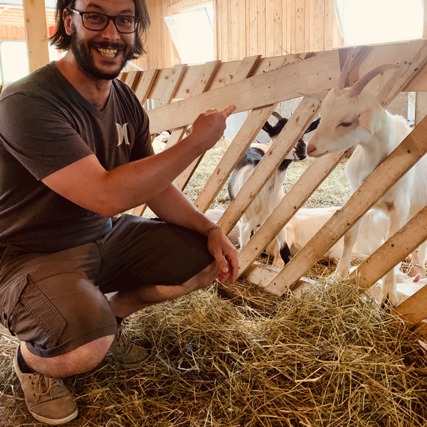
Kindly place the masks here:
<instances>
[{"instance_id":1,"label":"dark grey t-shirt sleeve on the man's pointing arm","mask_svg":"<svg viewBox=\"0 0 427 427\"><path fill-rule=\"evenodd\" d=\"M38 180L93 154L58 106L21 93L0 101L0 145Z\"/></svg>"}]
</instances>

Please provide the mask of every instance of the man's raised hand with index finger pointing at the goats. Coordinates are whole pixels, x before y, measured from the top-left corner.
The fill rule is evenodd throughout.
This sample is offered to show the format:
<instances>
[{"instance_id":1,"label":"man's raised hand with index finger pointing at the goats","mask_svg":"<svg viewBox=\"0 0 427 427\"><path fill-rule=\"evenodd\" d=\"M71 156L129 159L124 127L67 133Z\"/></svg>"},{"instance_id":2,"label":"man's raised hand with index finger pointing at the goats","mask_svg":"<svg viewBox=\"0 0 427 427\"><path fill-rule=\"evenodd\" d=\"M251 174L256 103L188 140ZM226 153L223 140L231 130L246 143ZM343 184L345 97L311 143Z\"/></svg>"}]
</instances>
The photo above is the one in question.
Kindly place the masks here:
<instances>
[{"instance_id":1,"label":"man's raised hand with index finger pointing at the goats","mask_svg":"<svg viewBox=\"0 0 427 427\"><path fill-rule=\"evenodd\" d=\"M226 130L226 119L236 110L236 105L230 105L222 111L208 110L203 112L193 123L192 132L187 139L194 139L199 144L201 152L214 147Z\"/></svg>"}]
</instances>

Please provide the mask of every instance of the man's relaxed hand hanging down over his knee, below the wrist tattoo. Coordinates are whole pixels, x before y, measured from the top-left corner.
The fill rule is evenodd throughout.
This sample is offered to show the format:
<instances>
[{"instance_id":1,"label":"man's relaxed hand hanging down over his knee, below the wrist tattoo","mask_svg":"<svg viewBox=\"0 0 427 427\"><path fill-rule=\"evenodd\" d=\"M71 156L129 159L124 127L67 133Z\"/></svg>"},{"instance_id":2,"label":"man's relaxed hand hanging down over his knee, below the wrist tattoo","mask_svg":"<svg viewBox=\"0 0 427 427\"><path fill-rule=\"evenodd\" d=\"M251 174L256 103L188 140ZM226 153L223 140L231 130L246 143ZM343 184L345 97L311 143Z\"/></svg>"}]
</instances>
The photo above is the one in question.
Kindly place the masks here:
<instances>
[{"instance_id":1,"label":"man's relaxed hand hanging down over his knee, below the wrist tattoo","mask_svg":"<svg viewBox=\"0 0 427 427\"><path fill-rule=\"evenodd\" d=\"M221 283L231 280L234 283L238 275L237 251L221 229L211 231L208 236L208 250L214 256L220 269L218 280Z\"/></svg>"}]
</instances>

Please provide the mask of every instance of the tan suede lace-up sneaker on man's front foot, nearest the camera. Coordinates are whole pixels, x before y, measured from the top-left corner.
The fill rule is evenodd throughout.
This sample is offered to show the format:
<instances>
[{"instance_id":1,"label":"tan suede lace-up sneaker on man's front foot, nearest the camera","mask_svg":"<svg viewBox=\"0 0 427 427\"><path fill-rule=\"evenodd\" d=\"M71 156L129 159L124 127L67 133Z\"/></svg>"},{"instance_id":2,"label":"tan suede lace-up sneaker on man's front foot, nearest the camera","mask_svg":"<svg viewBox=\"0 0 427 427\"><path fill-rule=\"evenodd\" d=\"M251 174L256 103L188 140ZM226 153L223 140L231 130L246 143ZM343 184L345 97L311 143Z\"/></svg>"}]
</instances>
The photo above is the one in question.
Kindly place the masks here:
<instances>
[{"instance_id":1,"label":"tan suede lace-up sneaker on man's front foot, nearest the camera","mask_svg":"<svg viewBox=\"0 0 427 427\"><path fill-rule=\"evenodd\" d=\"M14 357L14 369L21 381L28 411L37 421L58 426L77 416L77 405L63 381L38 372L24 374L19 369L18 349Z\"/></svg>"}]
</instances>

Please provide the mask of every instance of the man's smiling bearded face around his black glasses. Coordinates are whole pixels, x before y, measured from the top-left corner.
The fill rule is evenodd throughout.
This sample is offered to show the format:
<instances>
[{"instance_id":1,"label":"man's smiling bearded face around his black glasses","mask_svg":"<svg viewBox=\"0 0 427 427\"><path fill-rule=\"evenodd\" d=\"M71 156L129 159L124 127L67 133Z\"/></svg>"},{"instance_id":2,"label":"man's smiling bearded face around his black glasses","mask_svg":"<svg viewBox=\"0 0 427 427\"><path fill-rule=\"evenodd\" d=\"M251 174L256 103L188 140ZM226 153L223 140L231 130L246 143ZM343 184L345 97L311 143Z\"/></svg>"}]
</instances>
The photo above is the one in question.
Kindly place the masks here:
<instances>
[{"instance_id":1,"label":"man's smiling bearded face around his black glasses","mask_svg":"<svg viewBox=\"0 0 427 427\"><path fill-rule=\"evenodd\" d=\"M111 16L135 16L132 0L77 0L73 9ZM105 30L92 31L83 26L81 16L71 14L70 30L71 52L79 67L94 78L116 78L135 52L135 33L119 33L112 21Z\"/></svg>"}]
</instances>

